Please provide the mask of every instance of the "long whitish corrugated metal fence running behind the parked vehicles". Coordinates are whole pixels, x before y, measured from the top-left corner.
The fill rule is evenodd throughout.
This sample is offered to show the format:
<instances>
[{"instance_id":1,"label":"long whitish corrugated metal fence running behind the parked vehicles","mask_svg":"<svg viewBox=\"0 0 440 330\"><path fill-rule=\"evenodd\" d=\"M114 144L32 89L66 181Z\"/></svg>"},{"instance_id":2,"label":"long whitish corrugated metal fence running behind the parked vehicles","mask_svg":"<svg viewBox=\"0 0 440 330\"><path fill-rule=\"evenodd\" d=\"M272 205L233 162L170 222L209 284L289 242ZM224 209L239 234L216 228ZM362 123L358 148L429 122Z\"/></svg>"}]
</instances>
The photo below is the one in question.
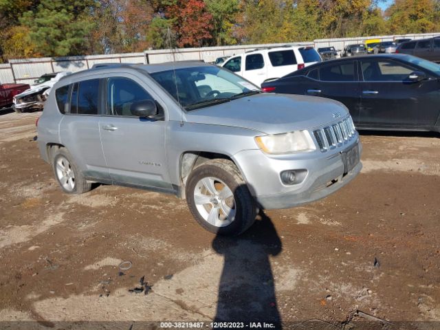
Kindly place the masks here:
<instances>
[{"instance_id":1,"label":"long whitish corrugated metal fence running behind the parked vehicles","mask_svg":"<svg viewBox=\"0 0 440 330\"><path fill-rule=\"evenodd\" d=\"M223 47L181 48L178 50L147 50L143 53L71 56L56 58L28 58L10 60L8 64L0 64L0 83L34 83L43 74L89 69L96 63L162 63L166 61L200 60L213 62L217 57L241 54L248 50L261 47L277 47L280 45L313 45L314 47L334 46L343 50L346 45L363 43L368 39L393 41L397 38L422 39L439 36L439 33L405 34L392 36L366 36L344 39L317 39L305 43L275 43L265 45L237 45Z\"/></svg>"}]
</instances>

